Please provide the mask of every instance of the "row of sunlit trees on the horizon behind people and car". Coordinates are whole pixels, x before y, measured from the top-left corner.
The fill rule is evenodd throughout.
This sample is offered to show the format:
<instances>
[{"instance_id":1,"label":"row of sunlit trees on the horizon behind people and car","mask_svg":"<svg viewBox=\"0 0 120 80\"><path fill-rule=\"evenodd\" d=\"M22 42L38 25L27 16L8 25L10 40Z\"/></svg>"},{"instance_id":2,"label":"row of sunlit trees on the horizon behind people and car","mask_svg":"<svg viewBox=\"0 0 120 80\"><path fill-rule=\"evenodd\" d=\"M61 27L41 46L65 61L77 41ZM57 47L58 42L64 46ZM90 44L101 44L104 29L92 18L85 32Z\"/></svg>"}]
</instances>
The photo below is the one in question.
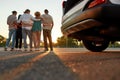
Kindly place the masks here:
<instances>
[{"instance_id":1,"label":"row of sunlit trees on the horizon behind people and car","mask_svg":"<svg viewBox=\"0 0 120 80\"><path fill-rule=\"evenodd\" d=\"M6 38L0 35L0 47L4 47L6 44ZM43 47L43 42L41 43L41 47ZM57 38L57 43L53 43L54 47L59 47L59 48L66 48L66 47L72 47L72 48L77 48L77 47L83 47L84 45L82 44L82 41L78 41L77 39L73 38L68 38L65 36L61 36ZM114 44L110 43L109 47L120 47L119 42L115 42Z\"/></svg>"}]
</instances>

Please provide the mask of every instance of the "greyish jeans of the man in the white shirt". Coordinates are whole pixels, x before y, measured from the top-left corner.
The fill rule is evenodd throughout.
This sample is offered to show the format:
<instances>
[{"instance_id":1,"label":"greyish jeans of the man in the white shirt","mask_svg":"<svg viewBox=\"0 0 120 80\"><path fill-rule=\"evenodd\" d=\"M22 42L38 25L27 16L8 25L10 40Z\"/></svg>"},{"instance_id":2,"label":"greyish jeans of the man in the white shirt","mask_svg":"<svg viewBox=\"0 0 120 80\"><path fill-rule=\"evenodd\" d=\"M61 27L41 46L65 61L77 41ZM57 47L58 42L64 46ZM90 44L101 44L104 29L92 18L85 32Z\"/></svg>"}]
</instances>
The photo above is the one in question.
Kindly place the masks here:
<instances>
[{"instance_id":1,"label":"greyish jeans of the man in the white shirt","mask_svg":"<svg viewBox=\"0 0 120 80\"><path fill-rule=\"evenodd\" d=\"M25 28L22 29L22 37L24 39L24 48L28 48L27 46L27 35L29 38L29 42L30 42L30 48L32 48L32 32L31 30L27 30Z\"/></svg>"}]
</instances>

